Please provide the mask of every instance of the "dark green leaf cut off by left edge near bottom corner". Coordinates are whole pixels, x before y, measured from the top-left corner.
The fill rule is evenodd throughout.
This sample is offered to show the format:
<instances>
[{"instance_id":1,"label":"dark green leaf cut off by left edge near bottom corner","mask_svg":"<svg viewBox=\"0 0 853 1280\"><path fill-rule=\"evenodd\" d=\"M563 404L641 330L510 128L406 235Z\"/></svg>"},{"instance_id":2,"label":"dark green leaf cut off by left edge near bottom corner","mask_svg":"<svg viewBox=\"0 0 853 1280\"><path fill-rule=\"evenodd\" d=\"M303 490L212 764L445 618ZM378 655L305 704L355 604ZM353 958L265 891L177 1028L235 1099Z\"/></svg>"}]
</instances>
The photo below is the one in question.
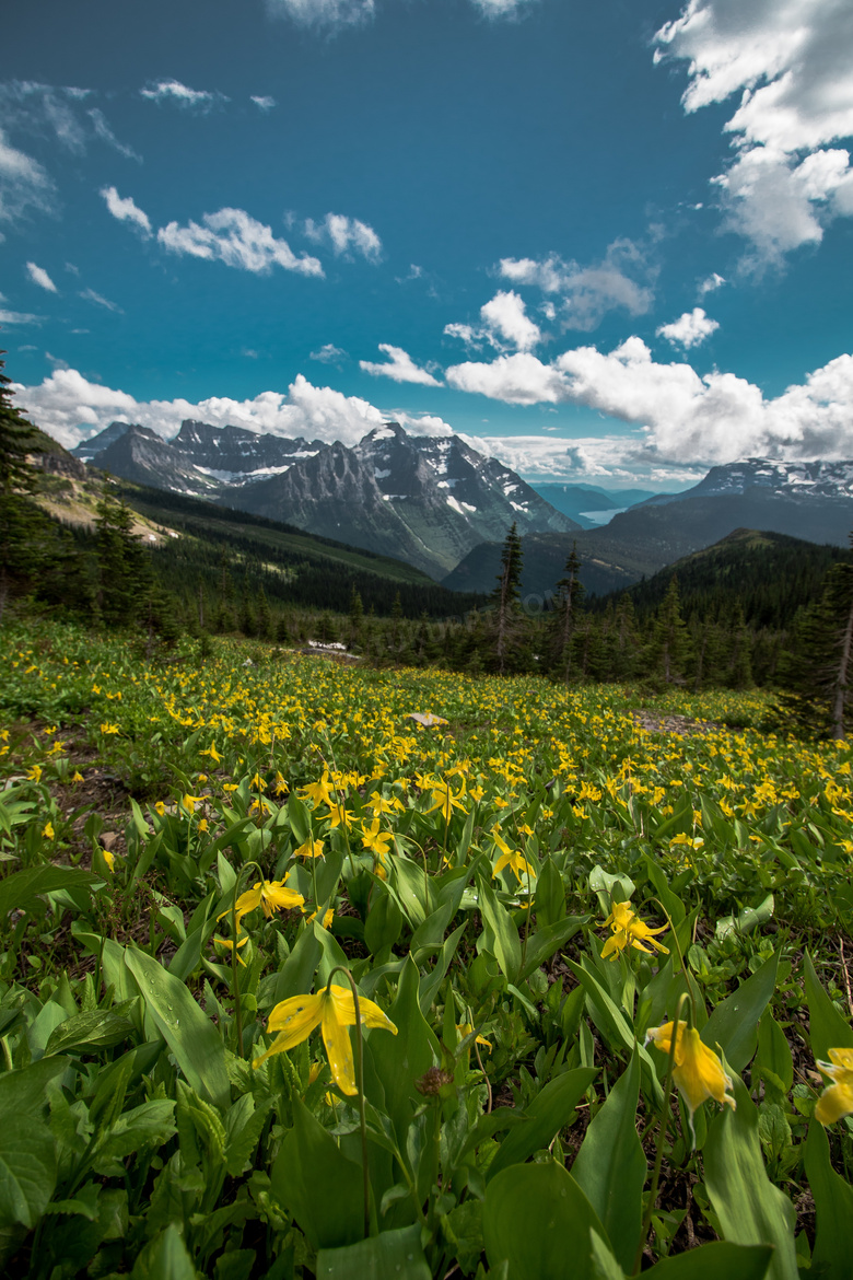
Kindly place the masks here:
<instances>
[{"instance_id":1,"label":"dark green leaf cut off by left edge near bottom corner","mask_svg":"<svg viewBox=\"0 0 853 1280\"><path fill-rule=\"evenodd\" d=\"M47 1085L67 1066L50 1057L0 1075L0 1228L32 1230L54 1194L56 1149L43 1112Z\"/></svg>"}]
</instances>

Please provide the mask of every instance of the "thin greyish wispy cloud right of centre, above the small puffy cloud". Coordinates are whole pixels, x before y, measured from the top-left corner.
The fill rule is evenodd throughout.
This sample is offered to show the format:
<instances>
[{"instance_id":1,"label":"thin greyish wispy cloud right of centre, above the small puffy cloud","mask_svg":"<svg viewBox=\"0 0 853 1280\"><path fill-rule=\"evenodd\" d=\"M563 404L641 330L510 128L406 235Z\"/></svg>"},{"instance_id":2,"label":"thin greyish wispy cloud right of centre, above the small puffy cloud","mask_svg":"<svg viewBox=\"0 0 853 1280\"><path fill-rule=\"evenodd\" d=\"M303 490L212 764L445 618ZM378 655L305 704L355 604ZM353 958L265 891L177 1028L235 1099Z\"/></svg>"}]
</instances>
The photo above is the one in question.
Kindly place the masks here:
<instances>
[{"instance_id":1,"label":"thin greyish wispy cloud right of centre, above the small puffy cloud","mask_svg":"<svg viewBox=\"0 0 853 1280\"><path fill-rule=\"evenodd\" d=\"M563 328L583 333L597 328L609 311L645 315L655 300L655 268L650 266L643 251L624 237L607 246L604 259L590 266L567 262L551 253L541 260L504 257L499 270L514 284L559 294Z\"/></svg>"}]
</instances>

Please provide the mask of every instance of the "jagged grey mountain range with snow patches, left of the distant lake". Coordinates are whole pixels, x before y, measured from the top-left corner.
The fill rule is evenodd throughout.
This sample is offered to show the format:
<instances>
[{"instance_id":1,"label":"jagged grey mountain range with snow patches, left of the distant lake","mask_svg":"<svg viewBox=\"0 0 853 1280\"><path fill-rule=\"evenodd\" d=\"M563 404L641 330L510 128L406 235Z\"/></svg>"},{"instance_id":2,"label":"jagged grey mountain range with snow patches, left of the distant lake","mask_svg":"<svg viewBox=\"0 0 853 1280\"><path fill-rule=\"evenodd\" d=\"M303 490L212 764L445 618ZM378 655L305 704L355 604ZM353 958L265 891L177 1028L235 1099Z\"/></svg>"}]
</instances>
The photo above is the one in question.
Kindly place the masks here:
<instances>
[{"instance_id":1,"label":"jagged grey mountain range with snow patches, left of the distant lake","mask_svg":"<svg viewBox=\"0 0 853 1280\"><path fill-rule=\"evenodd\" d=\"M187 419L173 440L111 422L74 449L137 484L211 498L307 532L408 561L442 577L481 543L581 526L509 467L458 435L414 436L398 422L353 448Z\"/></svg>"}]
</instances>

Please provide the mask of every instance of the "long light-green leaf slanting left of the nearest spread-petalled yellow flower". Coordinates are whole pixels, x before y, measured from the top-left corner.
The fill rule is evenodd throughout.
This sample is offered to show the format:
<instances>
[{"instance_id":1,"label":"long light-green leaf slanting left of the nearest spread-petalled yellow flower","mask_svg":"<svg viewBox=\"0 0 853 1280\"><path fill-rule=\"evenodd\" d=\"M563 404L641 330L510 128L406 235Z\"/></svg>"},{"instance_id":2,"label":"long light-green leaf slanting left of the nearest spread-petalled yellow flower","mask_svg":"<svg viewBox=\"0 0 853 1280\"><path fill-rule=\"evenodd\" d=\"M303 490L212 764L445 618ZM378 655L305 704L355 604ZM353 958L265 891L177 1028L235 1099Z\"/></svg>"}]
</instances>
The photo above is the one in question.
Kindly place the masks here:
<instances>
[{"instance_id":1,"label":"long light-green leaf slanting left of the nearest spread-petalled yellow flower","mask_svg":"<svg viewBox=\"0 0 853 1280\"><path fill-rule=\"evenodd\" d=\"M225 1110L231 1089L219 1032L183 982L145 951L128 947L124 963L133 974L157 1030L178 1066L202 1098Z\"/></svg>"}]
</instances>

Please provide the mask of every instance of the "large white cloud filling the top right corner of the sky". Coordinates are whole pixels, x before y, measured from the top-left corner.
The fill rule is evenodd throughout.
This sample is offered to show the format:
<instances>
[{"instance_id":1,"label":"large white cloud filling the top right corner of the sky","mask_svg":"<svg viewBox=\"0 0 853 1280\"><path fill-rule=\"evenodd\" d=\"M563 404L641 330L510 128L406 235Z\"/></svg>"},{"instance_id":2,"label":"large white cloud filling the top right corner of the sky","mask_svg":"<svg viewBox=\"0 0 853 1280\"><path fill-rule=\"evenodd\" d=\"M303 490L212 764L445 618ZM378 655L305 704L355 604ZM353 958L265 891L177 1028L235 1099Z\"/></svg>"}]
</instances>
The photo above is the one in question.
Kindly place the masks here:
<instances>
[{"instance_id":1,"label":"large white cloud filling the top right corner of the sky","mask_svg":"<svg viewBox=\"0 0 853 1280\"><path fill-rule=\"evenodd\" d=\"M739 93L737 150L716 177L747 265L779 264L853 214L853 170L830 143L853 134L853 14L838 0L689 0L655 37L655 59L688 60L685 111Z\"/></svg>"}]
</instances>

